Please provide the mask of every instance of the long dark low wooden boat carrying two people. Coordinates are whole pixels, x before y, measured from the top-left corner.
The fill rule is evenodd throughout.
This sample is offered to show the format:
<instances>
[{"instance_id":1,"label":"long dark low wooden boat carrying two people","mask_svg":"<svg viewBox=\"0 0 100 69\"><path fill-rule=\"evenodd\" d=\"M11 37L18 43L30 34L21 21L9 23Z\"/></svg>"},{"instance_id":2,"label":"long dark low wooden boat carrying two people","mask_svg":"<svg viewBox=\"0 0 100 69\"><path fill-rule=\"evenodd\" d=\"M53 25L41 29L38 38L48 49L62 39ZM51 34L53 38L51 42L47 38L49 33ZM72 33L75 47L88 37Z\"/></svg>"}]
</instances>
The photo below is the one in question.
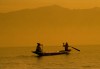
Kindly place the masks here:
<instances>
[{"instance_id":1,"label":"long dark low wooden boat carrying two people","mask_svg":"<svg viewBox=\"0 0 100 69\"><path fill-rule=\"evenodd\" d=\"M61 55L61 54L69 54L71 50L68 51L58 51L58 52L36 52L36 51L32 51L32 53L37 54L38 56L52 56L52 55Z\"/></svg>"}]
</instances>

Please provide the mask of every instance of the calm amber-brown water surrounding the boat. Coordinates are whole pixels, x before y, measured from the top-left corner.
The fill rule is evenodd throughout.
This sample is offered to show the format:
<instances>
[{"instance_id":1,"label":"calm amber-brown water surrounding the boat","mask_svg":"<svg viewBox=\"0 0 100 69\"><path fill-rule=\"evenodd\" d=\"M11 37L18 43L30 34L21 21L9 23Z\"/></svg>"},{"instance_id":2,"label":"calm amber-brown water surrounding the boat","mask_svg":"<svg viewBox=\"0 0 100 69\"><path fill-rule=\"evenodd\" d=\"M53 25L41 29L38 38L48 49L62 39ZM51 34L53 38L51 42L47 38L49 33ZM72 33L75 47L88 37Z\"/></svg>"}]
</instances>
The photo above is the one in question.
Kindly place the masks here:
<instances>
[{"instance_id":1,"label":"calm amber-brown water surrounding the boat","mask_svg":"<svg viewBox=\"0 0 100 69\"><path fill-rule=\"evenodd\" d=\"M76 46L74 46L76 47ZM0 48L0 69L100 69L100 46L77 46L69 55L37 57L35 47ZM45 46L44 51L57 51L59 46Z\"/></svg>"}]
</instances>

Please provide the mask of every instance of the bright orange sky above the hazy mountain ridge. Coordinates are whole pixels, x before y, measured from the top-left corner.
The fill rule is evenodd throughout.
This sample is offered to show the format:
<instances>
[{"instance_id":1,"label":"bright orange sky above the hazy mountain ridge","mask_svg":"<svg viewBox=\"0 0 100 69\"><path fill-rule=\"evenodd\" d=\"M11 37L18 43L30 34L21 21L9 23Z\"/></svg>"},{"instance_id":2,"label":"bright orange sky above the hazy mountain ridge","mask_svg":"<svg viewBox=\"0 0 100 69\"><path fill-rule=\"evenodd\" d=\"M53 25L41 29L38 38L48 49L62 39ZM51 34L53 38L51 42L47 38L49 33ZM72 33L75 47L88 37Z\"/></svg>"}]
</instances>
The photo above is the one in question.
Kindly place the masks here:
<instances>
[{"instance_id":1,"label":"bright orange sky above the hazy mountain ridge","mask_svg":"<svg viewBox=\"0 0 100 69\"><path fill-rule=\"evenodd\" d=\"M60 5L71 9L100 7L100 0L0 0L0 12Z\"/></svg>"}]
</instances>

